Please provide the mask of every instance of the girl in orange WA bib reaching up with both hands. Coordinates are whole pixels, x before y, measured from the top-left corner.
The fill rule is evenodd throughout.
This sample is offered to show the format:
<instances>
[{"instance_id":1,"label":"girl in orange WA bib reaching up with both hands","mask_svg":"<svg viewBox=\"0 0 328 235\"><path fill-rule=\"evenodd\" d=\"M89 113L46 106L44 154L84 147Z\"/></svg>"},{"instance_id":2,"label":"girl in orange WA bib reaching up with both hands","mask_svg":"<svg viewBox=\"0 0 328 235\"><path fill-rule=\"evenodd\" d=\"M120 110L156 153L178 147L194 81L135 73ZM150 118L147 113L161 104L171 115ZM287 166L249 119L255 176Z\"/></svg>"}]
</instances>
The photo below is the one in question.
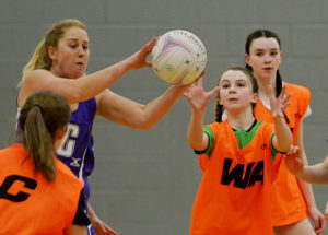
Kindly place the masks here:
<instances>
[{"instance_id":1,"label":"girl in orange WA bib reaching up with both hands","mask_svg":"<svg viewBox=\"0 0 328 235\"><path fill-rule=\"evenodd\" d=\"M272 162L277 151L285 152L292 144L282 113L289 96L284 90L277 99L271 96L272 125L254 117L258 86L246 68L226 70L219 86L204 93L200 80L185 95L192 108L188 141L200 154L203 172L190 235L272 235ZM218 91L216 121L203 127L206 107Z\"/></svg>"}]
</instances>

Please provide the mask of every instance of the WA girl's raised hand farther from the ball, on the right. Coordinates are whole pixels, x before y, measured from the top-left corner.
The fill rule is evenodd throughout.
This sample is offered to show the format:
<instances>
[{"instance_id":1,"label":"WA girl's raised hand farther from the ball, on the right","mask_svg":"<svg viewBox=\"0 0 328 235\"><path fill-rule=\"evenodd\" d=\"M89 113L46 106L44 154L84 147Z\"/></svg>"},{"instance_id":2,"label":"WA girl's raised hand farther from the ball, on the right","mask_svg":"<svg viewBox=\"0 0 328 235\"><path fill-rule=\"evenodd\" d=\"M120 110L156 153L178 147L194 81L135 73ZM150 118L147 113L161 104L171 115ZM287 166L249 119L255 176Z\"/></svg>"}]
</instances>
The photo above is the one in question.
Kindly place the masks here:
<instances>
[{"instance_id":1,"label":"WA girl's raised hand farther from the ball, on the right","mask_svg":"<svg viewBox=\"0 0 328 235\"><path fill-rule=\"evenodd\" d=\"M289 102L291 94L285 94L285 86L283 86L279 97L274 98L272 87L270 86L269 95L270 95L271 114L273 119L276 117L283 117L283 110L291 104Z\"/></svg>"}]
</instances>

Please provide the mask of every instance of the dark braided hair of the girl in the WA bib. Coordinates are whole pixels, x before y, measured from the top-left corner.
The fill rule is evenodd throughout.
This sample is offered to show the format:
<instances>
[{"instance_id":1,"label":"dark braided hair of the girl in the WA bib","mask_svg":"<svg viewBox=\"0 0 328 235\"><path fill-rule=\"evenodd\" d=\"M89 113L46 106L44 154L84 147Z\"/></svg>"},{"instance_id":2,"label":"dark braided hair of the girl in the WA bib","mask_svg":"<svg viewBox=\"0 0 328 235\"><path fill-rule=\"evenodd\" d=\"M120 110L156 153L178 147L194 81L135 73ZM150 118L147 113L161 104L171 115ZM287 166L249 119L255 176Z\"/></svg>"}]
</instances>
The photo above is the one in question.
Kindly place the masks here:
<instances>
[{"instance_id":1,"label":"dark braided hair of the girl in the WA bib","mask_svg":"<svg viewBox=\"0 0 328 235\"><path fill-rule=\"evenodd\" d=\"M234 66L234 67L230 67L229 69L226 69L222 75L229 71L229 70L233 70L233 71L241 71L243 72L250 81L251 83L251 87L253 87L253 93L258 93L258 85L257 85L257 81L254 77L254 74L247 69L247 68L243 68L243 67L237 67L237 66ZM221 78L222 78L221 75ZM219 80L219 84L220 84L220 81L221 81L221 78ZM218 94L219 96L219 94ZM255 108L255 103L251 104L251 108L254 109ZM224 107L223 105L220 104L219 99L216 101L216 110L215 110L215 121L218 122L221 122L222 121L222 115L223 115L223 111L224 111Z\"/></svg>"}]
</instances>

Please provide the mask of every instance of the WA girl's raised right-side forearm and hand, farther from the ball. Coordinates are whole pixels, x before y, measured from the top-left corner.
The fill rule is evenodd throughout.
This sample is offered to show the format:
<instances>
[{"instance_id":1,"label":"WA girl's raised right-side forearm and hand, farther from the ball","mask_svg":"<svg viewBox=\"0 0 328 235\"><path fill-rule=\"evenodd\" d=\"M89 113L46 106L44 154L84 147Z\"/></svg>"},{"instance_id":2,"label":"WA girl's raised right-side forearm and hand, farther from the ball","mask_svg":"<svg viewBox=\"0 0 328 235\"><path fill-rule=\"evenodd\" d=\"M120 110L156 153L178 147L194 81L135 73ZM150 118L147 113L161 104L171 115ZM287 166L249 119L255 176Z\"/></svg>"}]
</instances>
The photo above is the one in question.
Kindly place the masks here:
<instances>
[{"instance_id":1,"label":"WA girl's raised right-side forearm and hand, farther from the ball","mask_svg":"<svg viewBox=\"0 0 328 235\"><path fill-rule=\"evenodd\" d=\"M278 98L273 97L272 87L269 89L271 114L274 124L276 136L273 137L272 144L276 150L280 152L288 152L293 142L292 132L284 121L283 110L290 105L290 95L285 94L285 86L282 89Z\"/></svg>"}]
</instances>

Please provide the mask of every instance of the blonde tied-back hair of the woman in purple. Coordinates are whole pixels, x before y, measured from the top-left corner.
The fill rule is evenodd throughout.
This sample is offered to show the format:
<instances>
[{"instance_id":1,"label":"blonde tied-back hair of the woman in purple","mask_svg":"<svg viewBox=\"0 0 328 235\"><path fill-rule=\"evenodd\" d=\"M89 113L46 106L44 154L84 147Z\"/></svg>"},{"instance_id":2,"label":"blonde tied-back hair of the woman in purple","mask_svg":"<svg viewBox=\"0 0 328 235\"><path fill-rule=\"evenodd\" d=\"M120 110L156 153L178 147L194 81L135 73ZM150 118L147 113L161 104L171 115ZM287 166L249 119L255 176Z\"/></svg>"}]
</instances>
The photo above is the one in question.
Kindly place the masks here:
<instances>
[{"instance_id":1,"label":"blonde tied-back hair of the woman in purple","mask_svg":"<svg viewBox=\"0 0 328 235\"><path fill-rule=\"evenodd\" d=\"M36 69L51 69L52 61L49 58L48 48L50 46L57 48L59 40L63 37L67 30L71 27L79 27L86 31L85 24L75 19L66 19L54 24L50 31L47 32L45 38L42 39L42 42L37 45L32 58L24 67L22 80L19 83L19 87L22 85L31 71Z\"/></svg>"}]
</instances>

